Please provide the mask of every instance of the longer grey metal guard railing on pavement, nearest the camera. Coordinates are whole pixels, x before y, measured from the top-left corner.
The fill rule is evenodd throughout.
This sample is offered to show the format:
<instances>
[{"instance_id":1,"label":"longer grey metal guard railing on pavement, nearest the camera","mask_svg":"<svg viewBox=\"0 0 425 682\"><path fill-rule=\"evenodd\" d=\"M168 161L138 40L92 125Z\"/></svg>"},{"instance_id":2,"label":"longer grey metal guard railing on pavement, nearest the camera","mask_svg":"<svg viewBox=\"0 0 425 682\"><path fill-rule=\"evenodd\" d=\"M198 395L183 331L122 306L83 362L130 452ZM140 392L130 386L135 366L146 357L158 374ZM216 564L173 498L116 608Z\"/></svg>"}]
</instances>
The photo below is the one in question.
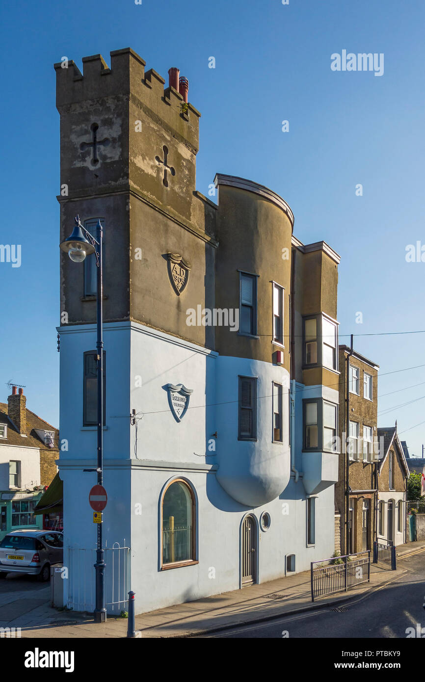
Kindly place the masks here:
<instances>
[{"instance_id":1,"label":"longer grey metal guard railing on pavement, nearest the camera","mask_svg":"<svg viewBox=\"0 0 425 682\"><path fill-rule=\"evenodd\" d=\"M312 602L318 597L347 592L350 587L370 582L370 550L312 561L310 582Z\"/></svg>"}]
</instances>

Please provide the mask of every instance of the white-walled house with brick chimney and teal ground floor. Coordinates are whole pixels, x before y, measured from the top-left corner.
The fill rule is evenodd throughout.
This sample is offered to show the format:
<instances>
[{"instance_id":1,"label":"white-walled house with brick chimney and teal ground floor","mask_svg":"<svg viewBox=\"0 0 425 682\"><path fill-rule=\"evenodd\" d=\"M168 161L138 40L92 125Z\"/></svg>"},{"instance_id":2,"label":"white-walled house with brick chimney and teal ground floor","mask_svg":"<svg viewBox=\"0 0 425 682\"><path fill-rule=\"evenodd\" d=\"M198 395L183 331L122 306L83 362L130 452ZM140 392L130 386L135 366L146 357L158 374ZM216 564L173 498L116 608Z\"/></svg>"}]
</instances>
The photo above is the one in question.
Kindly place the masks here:
<instances>
[{"instance_id":1,"label":"white-walled house with brick chimney and teal ground floor","mask_svg":"<svg viewBox=\"0 0 425 682\"><path fill-rule=\"evenodd\" d=\"M26 404L16 386L0 402L0 540L10 531L43 527L33 511L57 472L58 431Z\"/></svg>"}]
</instances>

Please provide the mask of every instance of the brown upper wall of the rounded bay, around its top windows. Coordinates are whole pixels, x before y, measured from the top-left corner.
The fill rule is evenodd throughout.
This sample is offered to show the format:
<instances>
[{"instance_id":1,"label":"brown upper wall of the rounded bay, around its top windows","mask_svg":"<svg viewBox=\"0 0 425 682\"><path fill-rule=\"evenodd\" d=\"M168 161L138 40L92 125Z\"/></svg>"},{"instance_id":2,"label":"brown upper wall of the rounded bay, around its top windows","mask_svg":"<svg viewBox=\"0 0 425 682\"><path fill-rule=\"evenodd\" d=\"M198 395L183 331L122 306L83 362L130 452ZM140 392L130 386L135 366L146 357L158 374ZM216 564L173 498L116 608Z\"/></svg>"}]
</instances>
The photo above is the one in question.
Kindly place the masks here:
<instances>
[{"instance_id":1,"label":"brown upper wall of the rounded bay, around its top windows","mask_svg":"<svg viewBox=\"0 0 425 682\"><path fill-rule=\"evenodd\" d=\"M230 186L219 186L216 265L216 306L239 308L238 269L259 275L259 338L241 336L224 327L216 329L216 350L221 355L252 357L267 362L279 346L272 344L272 281L284 287L284 368L289 371L289 294L292 226L287 215L265 198Z\"/></svg>"}]
</instances>

